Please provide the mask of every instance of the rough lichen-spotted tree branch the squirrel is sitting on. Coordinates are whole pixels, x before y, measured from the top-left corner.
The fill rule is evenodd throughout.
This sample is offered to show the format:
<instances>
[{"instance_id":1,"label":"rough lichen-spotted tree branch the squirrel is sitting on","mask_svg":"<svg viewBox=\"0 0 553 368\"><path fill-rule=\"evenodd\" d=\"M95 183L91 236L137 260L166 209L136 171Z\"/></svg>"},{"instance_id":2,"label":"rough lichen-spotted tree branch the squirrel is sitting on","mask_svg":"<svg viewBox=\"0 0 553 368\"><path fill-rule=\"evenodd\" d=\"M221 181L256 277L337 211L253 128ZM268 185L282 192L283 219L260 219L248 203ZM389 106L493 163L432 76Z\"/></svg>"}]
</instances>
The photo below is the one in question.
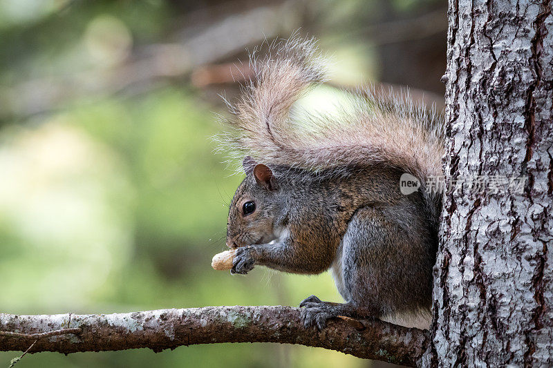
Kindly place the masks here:
<instances>
[{"instance_id":1,"label":"rough lichen-spotted tree branch the squirrel is sitting on","mask_svg":"<svg viewBox=\"0 0 553 368\"><path fill-rule=\"evenodd\" d=\"M380 320L333 320L323 331L303 327L299 308L203 307L100 315L16 316L0 313L0 351L26 351L30 335L46 333L29 352L153 351L219 342L280 342L323 347L359 358L417 366L426 331ZM66 329L65 334L49 334ZM80 332L79 332L80 329ZM28 336L14 336L24 333Z\"/></svg>"}]
</instances>

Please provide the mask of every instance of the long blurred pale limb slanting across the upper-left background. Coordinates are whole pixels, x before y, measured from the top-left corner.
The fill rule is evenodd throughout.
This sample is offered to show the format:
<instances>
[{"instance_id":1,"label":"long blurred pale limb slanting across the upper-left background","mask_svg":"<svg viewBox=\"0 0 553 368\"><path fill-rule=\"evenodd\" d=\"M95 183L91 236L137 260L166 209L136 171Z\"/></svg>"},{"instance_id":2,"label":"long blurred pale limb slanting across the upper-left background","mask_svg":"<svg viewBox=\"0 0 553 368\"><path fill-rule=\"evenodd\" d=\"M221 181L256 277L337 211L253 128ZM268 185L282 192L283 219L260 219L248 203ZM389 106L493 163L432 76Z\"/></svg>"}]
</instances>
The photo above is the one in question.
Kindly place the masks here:
<instances>
[{"instance_id":1,"label":"long blurred pale limb slanting across the upper-left background","mask_svg":"<svg viewBox=\"0 0 553 368\"><path fill-rule=\"evenodd\" d=\"M75 99L114 95L122 91L132 94L155 88L164 79L184 77L198 66L298 28L299 17L285 17L290 14L290 6L291 2L285 1L274 6L242 9L219 21L214 19L196 26L199 29L182 28L168 37L174 39L172 43L139 47L120 65L21 82L8 88L9 95L13 96L10 99L11 113L20 118L29 117L63 108ZM191 23L191 17L200 17L200 14L194 12L189 18L182 19L182 23ZM261 28L263 33L259 32ZM0 118L8 107L0 99Z\"/></svg>"}]
</instances>

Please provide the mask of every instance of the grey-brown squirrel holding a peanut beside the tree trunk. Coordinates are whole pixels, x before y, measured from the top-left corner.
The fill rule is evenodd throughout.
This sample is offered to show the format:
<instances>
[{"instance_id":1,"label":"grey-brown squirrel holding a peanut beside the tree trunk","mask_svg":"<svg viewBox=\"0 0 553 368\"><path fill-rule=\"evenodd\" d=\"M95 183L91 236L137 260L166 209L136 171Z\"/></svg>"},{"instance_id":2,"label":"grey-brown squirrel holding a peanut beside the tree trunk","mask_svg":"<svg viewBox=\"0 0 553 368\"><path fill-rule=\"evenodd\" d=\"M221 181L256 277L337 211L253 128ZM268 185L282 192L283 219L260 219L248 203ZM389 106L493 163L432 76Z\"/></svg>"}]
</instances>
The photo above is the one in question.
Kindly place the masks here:
<instances>
[{"instance_id":1,"label":"grey-brown squirrel holding a peanut beside the tree trunk","mask_svg":"<svg viewBox=\"0 0 553 368\"><path fill-rule=\"evenodd\" d=\"M325 81L315 39L272 43L266 57L254 51L250 67L238 101L225 100L234 134L219 137L245 173L229 206L231 273L330 269L345 302L306 298L306 327L428 312L442 197L425 183L442 175L440 114L368 88L339 117L297 118L294 102ZM409 195L400 190L406 173L419 186Z\"/></svg>"}]
</instances>

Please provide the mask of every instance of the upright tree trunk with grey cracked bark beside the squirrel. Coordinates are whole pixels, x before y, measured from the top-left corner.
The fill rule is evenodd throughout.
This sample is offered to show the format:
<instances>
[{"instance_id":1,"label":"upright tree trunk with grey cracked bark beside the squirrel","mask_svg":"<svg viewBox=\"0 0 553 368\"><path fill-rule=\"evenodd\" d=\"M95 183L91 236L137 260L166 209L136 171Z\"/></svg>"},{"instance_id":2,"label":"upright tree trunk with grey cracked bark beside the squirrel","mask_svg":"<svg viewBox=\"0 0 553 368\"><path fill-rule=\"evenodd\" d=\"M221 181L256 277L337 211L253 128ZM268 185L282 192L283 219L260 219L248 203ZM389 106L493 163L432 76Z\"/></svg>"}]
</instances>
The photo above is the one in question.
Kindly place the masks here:
<instances>
[{"instance_id":1,"label":"upright tree trunk with grey cracked bark beside the squirrel","mask_svg":"<svg viewBox=\"0 0 553 368\"><path fill-rule=\"evenodd\" d=\"M449 1L430 366L553 366L551 6Z\"/></svg>"}]
</instances>

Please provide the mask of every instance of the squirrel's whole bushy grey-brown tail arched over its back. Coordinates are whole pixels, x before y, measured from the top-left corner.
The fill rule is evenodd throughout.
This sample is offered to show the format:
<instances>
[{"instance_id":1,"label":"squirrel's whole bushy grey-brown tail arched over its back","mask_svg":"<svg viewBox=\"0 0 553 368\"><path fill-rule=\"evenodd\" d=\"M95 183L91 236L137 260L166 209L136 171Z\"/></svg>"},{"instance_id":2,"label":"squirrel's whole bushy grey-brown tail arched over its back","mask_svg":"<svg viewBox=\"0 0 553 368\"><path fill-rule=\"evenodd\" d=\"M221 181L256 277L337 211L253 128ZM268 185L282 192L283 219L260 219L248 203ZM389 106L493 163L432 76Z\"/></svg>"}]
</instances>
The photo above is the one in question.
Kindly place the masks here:
<instances>
[{"instance_id":1,"label":"squirrel's whole bushy grey-brown tail arched over its back","mask_svg":"<svg viewBox=\"0 0 553 368\"><path fill-rule=\"evenodd\" d=\"M268 166L310 171L384 164L417 177L422 184L442 175L442 122L433 109L408 94L359 90L341 106L339 117L290 116L290 107L311 86L324 81L325 63L313 39L292 37L270 46L268 56L250 59L254 78L236 104L225 137L232 150ZM399 185L399 184L398 184ZM439 200L426 194L427 200ZM433 216L434 217L434 216Z\"/></svg>"}]
</instances>

